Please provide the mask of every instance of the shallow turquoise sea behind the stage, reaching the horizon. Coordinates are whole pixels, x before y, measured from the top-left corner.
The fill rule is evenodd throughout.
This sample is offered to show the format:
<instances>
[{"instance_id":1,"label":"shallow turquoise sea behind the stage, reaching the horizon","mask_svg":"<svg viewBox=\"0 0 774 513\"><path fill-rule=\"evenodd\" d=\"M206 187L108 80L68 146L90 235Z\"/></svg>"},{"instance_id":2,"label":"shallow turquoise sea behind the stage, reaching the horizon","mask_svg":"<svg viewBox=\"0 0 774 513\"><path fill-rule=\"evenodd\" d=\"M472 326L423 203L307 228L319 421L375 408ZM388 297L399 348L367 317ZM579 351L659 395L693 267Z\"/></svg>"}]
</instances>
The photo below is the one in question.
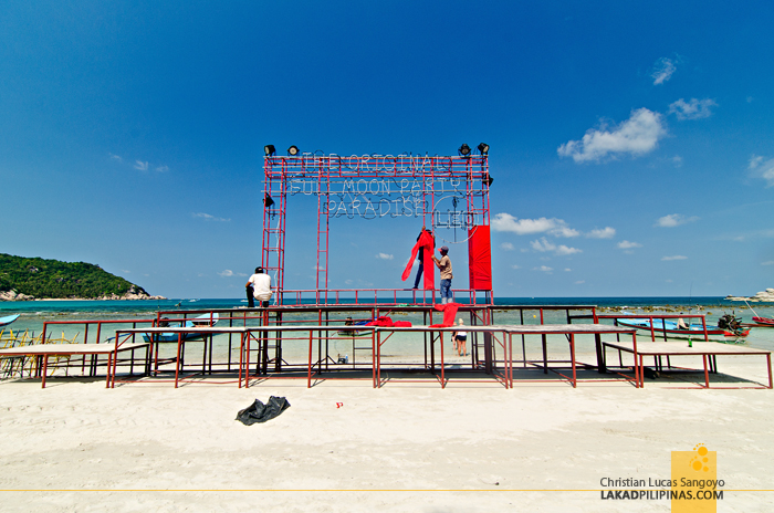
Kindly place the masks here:
<instances>
[{"instance_id":1,"label":"shallow turquoise sea behind the stage, reaching the horizon","mask_svg":"<svg viewBox=\"0 0 774 513\"><path fill-rule=\"evenodd\" d=\"M752 323L752 311L740 302L725 300L717 296L670 296L670 297L499 297L496 305L532 306L533 310L524 312L525 323L537 323L540 318L540 307L548 305L562 306L589 306L595 305L597 313L667 313L667 314L705 314L707 325L715 326L718 318L724 314L734 314L743 323ZM0 317L11 314L21 314L12 324L0 327L6 337L10 332L27 332L29 336L36 336L43 328L44 322L52 321L91 321L91 320L147 320L155 318L158 312L207 311L220 308L243 308L247 300L242 299L171 299L153 301L27 301L27 302L0 302ZM774 303L753 303L752 307L757 315L763 317L774 317ZM387 308L388 310L388 308ZM423 324L421 315L398 314L396 320L409 321L414 324ZM189 315L194 316L194 314ZM519 312L496 312L495 322L498 324L519 324ZM313 317L310 317L313 318ZM565 311L546 311L545 323L565 323ZM604 321L611 324L613 321ZM111 336L116 325L108 325L103 328L102 339ZM91 328L94 336L94 328ZM56 324L50 327L49 337L59 338L62 342L83 342L84 325L79 324ZM395 337L398 343L395 352L402 354L410 352L412 345L405 337ZM406 338L400 343L401 338ZM640 339L638 337L638 339ZM90 342L92 342L90 339ZM753 327L750 335L743 341L736 341L752 347L774 350L774 327ZM349 353L347 343L337 344L333 350L334 356Z\"/></svg>"}]
</instances>

